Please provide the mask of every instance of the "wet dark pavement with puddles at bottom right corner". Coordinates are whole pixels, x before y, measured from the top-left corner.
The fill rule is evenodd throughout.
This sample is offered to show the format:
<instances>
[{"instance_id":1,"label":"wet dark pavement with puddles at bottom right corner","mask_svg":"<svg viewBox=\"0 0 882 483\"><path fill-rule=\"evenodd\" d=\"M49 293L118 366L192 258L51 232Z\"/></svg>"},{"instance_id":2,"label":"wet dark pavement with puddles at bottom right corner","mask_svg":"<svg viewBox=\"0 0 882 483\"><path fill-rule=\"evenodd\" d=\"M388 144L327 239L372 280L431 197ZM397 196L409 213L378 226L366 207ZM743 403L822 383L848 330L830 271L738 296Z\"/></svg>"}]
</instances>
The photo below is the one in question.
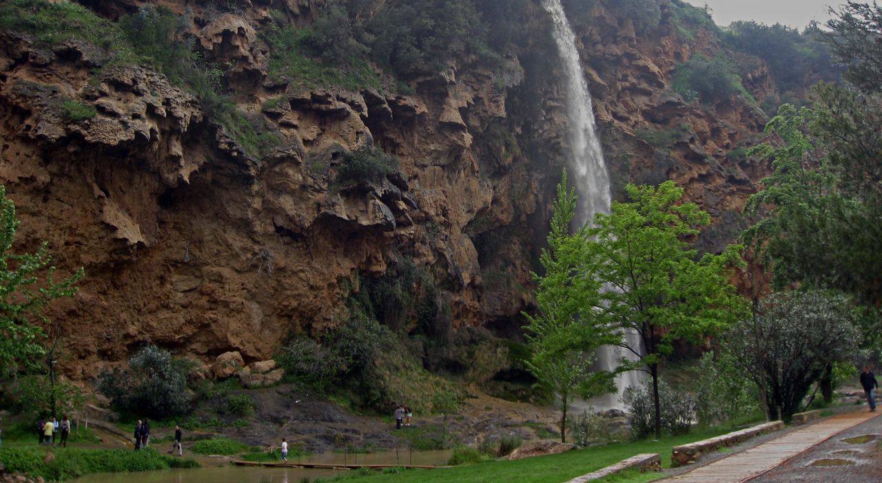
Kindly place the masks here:
<instances>
[{"instance_id":1,"label":"wet dark pavement with puddles at bottom right corner","mask_svg":"<svg viewBox=\"0 0 882 483\"><path fill-rule=\"evenodd\" d=\"M846 429L751 483L882 481L882 418Z\"/></svg>"}]
</instances>

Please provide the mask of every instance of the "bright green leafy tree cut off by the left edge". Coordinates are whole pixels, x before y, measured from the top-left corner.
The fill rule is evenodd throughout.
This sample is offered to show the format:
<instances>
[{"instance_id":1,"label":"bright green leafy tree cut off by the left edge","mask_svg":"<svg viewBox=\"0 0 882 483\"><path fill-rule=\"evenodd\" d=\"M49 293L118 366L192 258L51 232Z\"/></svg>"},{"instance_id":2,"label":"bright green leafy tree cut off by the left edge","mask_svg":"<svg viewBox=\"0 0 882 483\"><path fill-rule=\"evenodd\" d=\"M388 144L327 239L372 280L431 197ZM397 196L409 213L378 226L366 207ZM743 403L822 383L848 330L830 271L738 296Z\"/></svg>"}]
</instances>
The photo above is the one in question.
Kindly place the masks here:
<instances>
[{"instance_id":1,"label":"bright green leafy tree cut off by the left edge","mask_svg":"<svg viewBox=\"0 0 882 483\"><path fill-rule=\"evenodd\" d=\"M83 277L79 269L70 278L56 282L48 245L44 242L34 253L12 253L19 231L15 205L0 186L0 376L17 375L33 369L46 349L41 326L49 323L42 309L49 302L70 297L75 284Z\"/></svg>"}]
</instances>

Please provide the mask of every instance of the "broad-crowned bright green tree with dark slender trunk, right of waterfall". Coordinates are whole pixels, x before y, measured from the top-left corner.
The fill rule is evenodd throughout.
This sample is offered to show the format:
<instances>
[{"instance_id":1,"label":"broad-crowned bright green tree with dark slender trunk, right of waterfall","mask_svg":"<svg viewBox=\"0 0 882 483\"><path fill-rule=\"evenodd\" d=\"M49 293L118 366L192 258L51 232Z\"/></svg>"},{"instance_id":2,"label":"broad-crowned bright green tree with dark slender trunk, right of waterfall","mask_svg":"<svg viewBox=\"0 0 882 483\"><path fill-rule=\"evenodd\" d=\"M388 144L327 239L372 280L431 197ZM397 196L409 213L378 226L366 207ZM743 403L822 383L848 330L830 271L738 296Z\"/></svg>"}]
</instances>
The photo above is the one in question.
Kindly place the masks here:
<instances>
[{"instance_id":1,"label":"broad-crowned bright green tree with dark slender trunk, right of waterfall","mask_svg":"<svg viewBox=\"0 0 882 483\"><path fill-rule=\"evenodd\" d=\"M729 267L742 264L740 246L720 255L698 255L687 239L699 234L710 217L694 203L682 203L674 182L626 187L632 200L613 203L587 229L584 263L599 282L589 301L598 325L639 335L618 345L639 358L653 384L655 436L662 435L659 364L676 339L699 340L726 329L744 301L729 281ZM622 361L627 364L627 360ZM633 365L633 364L632 364Z\"/></svg>"}]
</instances>

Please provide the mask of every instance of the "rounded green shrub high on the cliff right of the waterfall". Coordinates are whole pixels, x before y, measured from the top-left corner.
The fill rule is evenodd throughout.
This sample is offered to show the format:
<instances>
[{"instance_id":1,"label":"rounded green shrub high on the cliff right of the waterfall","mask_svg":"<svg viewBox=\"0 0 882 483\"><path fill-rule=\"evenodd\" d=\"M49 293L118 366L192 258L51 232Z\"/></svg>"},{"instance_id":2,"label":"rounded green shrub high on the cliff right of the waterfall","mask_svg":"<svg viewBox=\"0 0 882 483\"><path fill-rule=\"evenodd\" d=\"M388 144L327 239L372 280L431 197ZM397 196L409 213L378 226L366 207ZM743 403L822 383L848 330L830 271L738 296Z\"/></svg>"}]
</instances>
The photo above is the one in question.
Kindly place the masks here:
<instances>
[{"instance_id":1,"label":"rounded green shrub high on the cliff right of the waterfall","mask_svg":"<svg viewBox=\"0 0 882 483\"><path fill-rule=\"evenodd\" d=\"M750 93L741 85L734 65L724 56L692 56L688 62L676 68L672 85L681 95L691 95L691 91L698 93L699 99L708 104L727 100L736 94L752 100Z\"/></svg>"}]
</instances>

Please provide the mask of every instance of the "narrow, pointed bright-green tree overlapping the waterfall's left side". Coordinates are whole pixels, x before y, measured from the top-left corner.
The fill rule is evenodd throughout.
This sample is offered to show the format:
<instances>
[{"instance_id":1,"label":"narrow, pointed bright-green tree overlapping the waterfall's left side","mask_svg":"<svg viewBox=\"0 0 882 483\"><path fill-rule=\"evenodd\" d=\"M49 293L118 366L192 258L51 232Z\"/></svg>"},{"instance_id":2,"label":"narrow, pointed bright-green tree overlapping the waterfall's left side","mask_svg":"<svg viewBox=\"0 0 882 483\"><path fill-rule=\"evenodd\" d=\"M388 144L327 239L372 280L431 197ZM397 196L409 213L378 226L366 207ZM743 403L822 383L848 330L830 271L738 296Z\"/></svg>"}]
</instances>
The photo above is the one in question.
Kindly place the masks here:
<instances>
[{"instance_id":1,"label":"narrow, pointed bright-green tree overlapping the waterfall's left side","mask_svg":"<svg viewBox=\"0 0 882 483\"><path fill-rule=\"evenodd\" d=\"M542 250L543 275L534 274L535 315L524 314L527 339L533 351L527 368L557 396L561 411L560 439L566 442L567 412L575 398L591 398L613 388L615 373L592 371L594 354L605 344L615 344L617 332L598 323L590 313L602 285L583 263L587 228L570 233L576 212L576 194L567 189L567 177L557 185L548 249ZM593 298L592 298L593 297ZM591 303L594 301L594 303Z\"/></svg>"}]
</instances>

